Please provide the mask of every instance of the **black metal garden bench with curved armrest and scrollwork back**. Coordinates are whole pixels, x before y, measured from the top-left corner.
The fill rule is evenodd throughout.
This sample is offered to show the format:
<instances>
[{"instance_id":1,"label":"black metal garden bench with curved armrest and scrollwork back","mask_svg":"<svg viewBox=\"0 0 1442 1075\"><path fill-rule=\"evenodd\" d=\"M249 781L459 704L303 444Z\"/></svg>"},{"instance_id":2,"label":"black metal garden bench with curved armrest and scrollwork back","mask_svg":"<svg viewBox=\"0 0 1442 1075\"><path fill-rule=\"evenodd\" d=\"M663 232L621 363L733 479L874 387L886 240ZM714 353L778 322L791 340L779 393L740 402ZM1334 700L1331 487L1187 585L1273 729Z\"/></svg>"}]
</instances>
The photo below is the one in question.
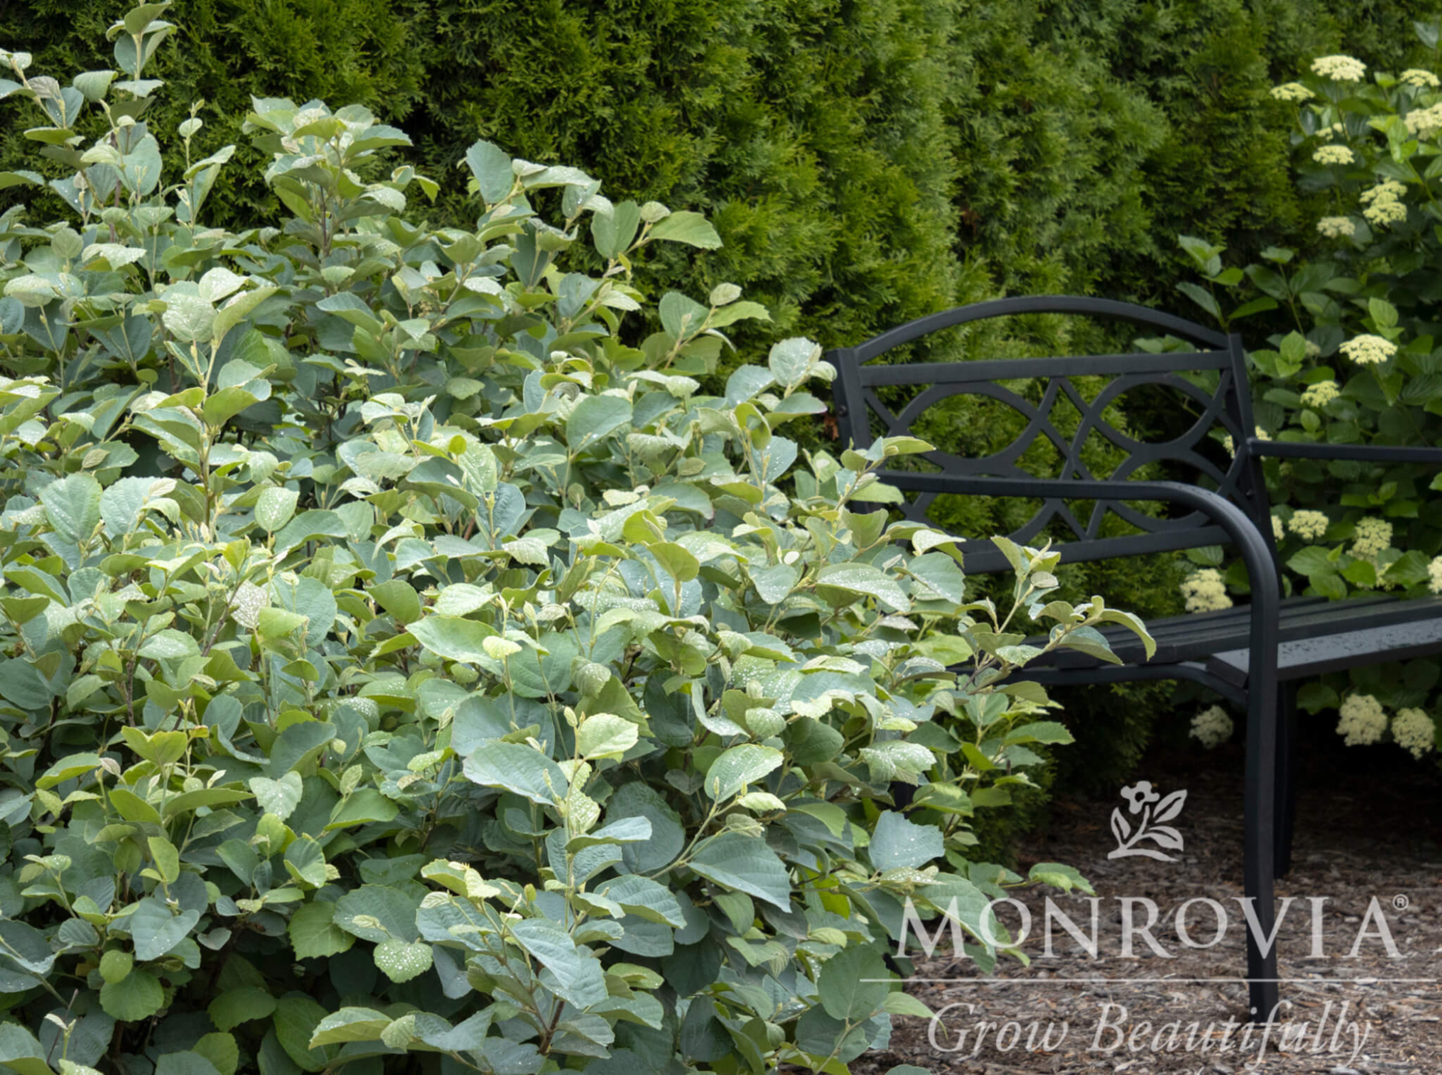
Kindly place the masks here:
<instances>
[{"instance_id":1,"label":"black metal garden bench with curved armrest and scrollwork back","mask_svg":"<svg viewBox=\"0 0 1442 1075\"><path fill-rule=\"evenodd\" d=\"M888 351L942 329L1030 313L1089 315L1131 322L1181 338L1198 349L872 364ZM1246 895L1256 900L1262 935L1270 935L1275 918L1272 883L1286 872L1291 859L1295 683L1319 672L1442 652L1442 599L1402 602L1371 596L1347 602L1312 597L1283 600L1260 459L1442 463L1442 449L1257 439L1253 434L1240 336L1227 336L1131 303L1069 296L1002 299L921 317L858 346L832 351L826 358L838 372L835 416L842 443L851 442L864 449L877 437L910 434L924 411L953 395L989 397L1015 408L1027 420L1025 430L1009 446L989 456L973 459L937 450L920 456L936 468L933 472L884 470L883 479L910 498L901 506L910 518L934 525L927 518L927 509L943 493L1032 498L1041 501L1040 509L1009 537L1017 543L1034 543L1060 524L1074 538L1058 545L1063 561L1218 544L1237 548L1252 590L1249 605L1154 620L1148 628L1156 641L1156 652L1149 661L1136 636L1118 628L1103 633L1122 658L1120 665L1063 651L1045 667L1030 665L1027 674L1053 684L1190 680L1246 710L1243 882ZM1203 388L1197 379L1182 377L1184 372L1214 378L1216 388ZM1076 377L1110 379L1093 400L1087 400L1073 382ZM1040 400L1028 400L1001 384L1022 378L1044 382ZM1155 385L1181 397L1194 418L1184 433L1164 443L1145 443L1106 420L1109 405L1142 385ZM888 405L891 395L907 390L919 391L908 401L898 404L891 400ZM1053 407L1061 400L1070 401L1080 416L1071 434L1063 433L1053 421ZM1217 462L1216 449L1207 449L1208 434L1217 429L1226 430L1234 446L1227 463ZM1083 444L1093 436L1103 437L1123 456L1110 475L1093 475L1083 460ZM1038 476L1019 465L1038 439L1050 442L1060 460L1054 475ZM1185 468L1210 488L1132 478L1148 465ZM1069 501L1090 502L1093 508L1086 514L1073 512ZM1129 506L1129 502L1167 504L1172 509L1185 509L1185 514L1148 512ZM1132 532L1103 534L1103 519L1109 512L1131 524ZM968 573L1008 570L1007 560L989 541L968 541L965 558ZM1265 1020L1278 1003L1276 951L1270 948L1263 954L1250 934L1247 980L1255 1016Z\"/></svg>"}]
</instances>

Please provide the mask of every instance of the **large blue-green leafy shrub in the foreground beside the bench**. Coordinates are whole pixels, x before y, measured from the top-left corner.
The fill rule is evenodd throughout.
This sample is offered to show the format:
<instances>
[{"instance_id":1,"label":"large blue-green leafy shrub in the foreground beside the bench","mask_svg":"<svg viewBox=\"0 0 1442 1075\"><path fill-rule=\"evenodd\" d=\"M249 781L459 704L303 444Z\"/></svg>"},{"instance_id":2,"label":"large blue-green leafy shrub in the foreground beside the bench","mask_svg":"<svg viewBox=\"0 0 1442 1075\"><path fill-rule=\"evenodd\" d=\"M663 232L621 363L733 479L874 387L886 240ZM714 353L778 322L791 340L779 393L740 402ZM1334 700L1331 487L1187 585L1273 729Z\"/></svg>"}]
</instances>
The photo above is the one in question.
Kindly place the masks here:
<instances>
[{"instance_id":1,"label":"large blue-green leafy shrub in the foreground beside the bench","mask_svg":"<svg viewBox=\"0 0 1442 1075\"><path fill-rule=\"evenodd\" d=\"M144 118L164 7L120 78L3 56L4 182L72 215L0 222L0 1063L841 1071L924 1013L904 921L989 965L988 899L1086 887L970 820L1067 740L1012 672L1139 623L1009 544L1014 607L968 600L874 509L924 444L783 436L809 341L702 394L766 312L630 277L698 214L482 141L431 228L401 131L260 100L291 216L208 227L231 147Z\"/></svg>"}]
</instances>

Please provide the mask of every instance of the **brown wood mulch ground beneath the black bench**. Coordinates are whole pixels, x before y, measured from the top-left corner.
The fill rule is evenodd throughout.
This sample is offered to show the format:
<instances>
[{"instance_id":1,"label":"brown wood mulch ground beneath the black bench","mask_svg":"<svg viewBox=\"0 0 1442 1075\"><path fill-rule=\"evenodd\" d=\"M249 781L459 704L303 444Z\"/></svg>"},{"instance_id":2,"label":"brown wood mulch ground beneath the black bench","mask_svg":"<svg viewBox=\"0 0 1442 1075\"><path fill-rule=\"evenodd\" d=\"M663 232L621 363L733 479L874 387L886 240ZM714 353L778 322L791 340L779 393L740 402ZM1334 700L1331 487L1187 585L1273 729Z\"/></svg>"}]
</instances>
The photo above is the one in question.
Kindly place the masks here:
<instances>
[{"instance_id":1,"label":"brown wood mulch ground beneath the black bench","mask_svg":"<svg viewBox=\"0 0 1442 1075\"><path fill-rule=\"evenodd\" d=\"M1327 734L1328 739L1335 739ZM1054 890L1018 893L1030 908L1030 967L999 964L978 981L969 960L950 942L921 960L908 987L933 1012L929 1023L897 1019L891 1045L858 1059L854 1071L874 1075L897 1063L933 1072L1275 1072L1293 1075L1442 1075L1442 773L1413 766L1396 746L1312 747L1304 758L1298 837L1292 872L1278 896L1295 896L1279 939L1282 997L1289 1001L1263 1046L1249 1029L1246 986L1226 981L1244 973L1242 896L1242 755L1155 752L1138 771L1156 791L1185 788L1171 824L1185 840L1178 861L1109 859L1110 828L1120 799L1058 801L1051 824L1019 848L1022 870L1037 861L1070 863L1094 885L1100 903L1099 957L1092 958L1060 928L1054 958L1043 957L1040 923L1050 893L1056 906L1090 928L1090 908ZM1135 818L1132 818L1135 820ZM1119 898L1148 898L1159 911L1152 929L1174 958L1136 939L1135 958L1122 957ZM1357 945L1371 899L1386 915L1396 958L1370 923ZM1175 912L1197 898L1229 908L1220 944L1187 948ZM1318 916L1324 958L1308 958L1314 936L1309 898L1325 898ZM1019 915L1002 912L1015 926ZM1135 923L1145 922L1138 905ZM1213 939L1216 913L1188 912L1197 944ZM927 981L930 978L930 981ZM1223 981L1217 981L1223 978ZM1203 980L1203 981L1198 981ZM988 1026L989 1024L989 1026ZM1305 1026L1304 1026L1305 1024ZM1278 1048L1278 1037L1289 1036Z\"/></svg>"}]
</instances>

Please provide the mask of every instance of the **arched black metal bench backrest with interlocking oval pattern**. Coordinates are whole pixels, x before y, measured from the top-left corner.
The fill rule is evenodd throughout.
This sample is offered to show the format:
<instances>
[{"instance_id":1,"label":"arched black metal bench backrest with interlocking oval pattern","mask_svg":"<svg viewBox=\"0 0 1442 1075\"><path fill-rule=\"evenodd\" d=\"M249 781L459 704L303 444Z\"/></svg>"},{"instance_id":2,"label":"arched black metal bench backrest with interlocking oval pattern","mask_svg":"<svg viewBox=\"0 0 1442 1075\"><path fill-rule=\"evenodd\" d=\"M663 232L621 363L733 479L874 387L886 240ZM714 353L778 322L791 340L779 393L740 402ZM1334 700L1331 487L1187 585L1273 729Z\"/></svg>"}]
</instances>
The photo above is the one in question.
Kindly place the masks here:
<instances>
[{"instance_id":1,"label":"arched black metal bench backrest with interlocking oval pattern","mask_svg":"<svg viewBox=\"0 0 1442 1075\"><path fill-rule=\"evenodd\" d=\"M888 351L920 339L929 333L950 329L988 317L1004 317L1021 313L1074 313L1092 317L1132 322L1159 333L1169 333L1197 346L1188 352L1125 354L1125 355L1077 355L1070 358L1005 358L966 362L910 362L888 364L877 361ZM1240 506L1272 543L1270 508L1266 488L1256 457L1247 447L1253 436L1252 401L1246 377L1246 362L1242 339L1227 336L1214 329L1175 317L1159 310L1132 303L1084 299L1073 296L1035 296L1022 299L1001 299L996 302L962 306L929 317L901 325L854 348L841 348L826 355L836 367L835 416L841 443L868 447L877 436L913 434L917 418L937 403L953 395L981 395L1012 407L1025 418L1025 429L1007 447L985 457L963 457L946 450L926 453L939 468L939 473L914 473L888 469L884 478L907 495L903 514L917 521L927 518L927 509L937 495L976 493L968 486L968 478L1005 478L1009 493L1027 495L1027 482L1045 478L1061 481L1105 481L1115 483L1120 493L1115 501L1087 501L1084 509L1073 509L1066 498L1040 496L1041 506L1017 531L1009 534L1014 541L1035 544L1053 524L1061 524L1070 531L1070 538L1060 544L1064 560L1103 560L1119 556L1141 556L1201 545L1226 544L1227 537L1200 512L1177 517L1165 509L1138 509L1125 502L1125 485L1138 470L1152 463L1174 465L1174 469L1188 470L1198 483L1213 489ZM1184 372L1210 372L1216 377L1216 390L1198 387L1187 379ZM1087 400L1071 378L1110 378L1102 391ZM1031 400L1001 384L1017 378L1044 382L1040 401ZM1208 378L1210 379L1210 378ZM1178 405L1185 407L1194 418L1180 436L1161 443L1135 440L1106 420L1105 411L1128 391L1142 385L1158 385L1178 395ZM887 387L920 388L910 401L894 413L884 397ZM881 395L878 395L881 390ZM1152 390L1155 391L1155 390ZM904 394L904 392L903 392ZM1053 408L1060 401L1069 401L1080 418L1074 433L1063 433L1054 420ZM895 404L893 404L895 405ZM1070 424L1070 423L1063 423ZM1224 452L1210 446L1214 430L1223 430L1231 439L1233 456L1224 459ZM1092 437L1102 437L1112 446L1112 453L1120 453L1122 462L1112 473L1093 473L1083 460L1083 446ZM1025 470L1019 460L1038 439L1045 439L1057 456L1054 473L1038 475ZM933 442L934 443L934 442ZM1151 478L1175 475L1151 475ZM1188 481L1182 478L1181 481ZM1074 504L1074 502L1073 502ZM1109 527L1103 532L1103 521L1112 512L1125 522L1125 528ZM1118 530L1131 532L1118 534ZM986 541L968 541L968 570L998 571L1005 569L999 551Z\"/></svg>"}]
</instances>

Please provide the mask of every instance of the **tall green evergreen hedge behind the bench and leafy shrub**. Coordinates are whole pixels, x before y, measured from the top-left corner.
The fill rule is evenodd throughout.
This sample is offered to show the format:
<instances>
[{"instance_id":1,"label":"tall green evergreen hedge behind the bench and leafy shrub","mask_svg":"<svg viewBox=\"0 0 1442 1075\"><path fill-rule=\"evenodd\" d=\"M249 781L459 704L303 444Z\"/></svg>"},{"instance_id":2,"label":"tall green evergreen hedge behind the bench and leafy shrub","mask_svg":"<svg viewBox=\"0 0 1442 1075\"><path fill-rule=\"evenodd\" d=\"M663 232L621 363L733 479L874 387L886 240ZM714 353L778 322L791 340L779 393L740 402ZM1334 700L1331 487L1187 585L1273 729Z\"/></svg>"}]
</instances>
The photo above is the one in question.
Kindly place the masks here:
<instances>
[{"instance_id":1,"label":"tall green evergreen hedge behind the bench and leafy shrub","mask_svg":"<svg viewBox=\"0 0 1442 1075\"><path fill-rule=\"evenodd\" d=\"M19 0L0 43L94 69L112 0ZM249 95L350 100L404 123L451 175L487 137L574 160L617 196L705 209L724 247L649 284L728 280L825 345L998 293L1175 303L1175 235L1242 254L1299 245L1266 88L1344 51L1400 69L1435 0L195 0L173 128L205 100L202 149L236 143ZM212 144L213 143L213 144ZM29 150L0 131L0 166ZM251 170L235 169L236 176ZM222 222L274 211L222 179ZM437 222L464 222L454 196ZM1044 333L1050 342L1054 336ZM754 339L753 342L761 342Z\"/></svg>"}]
</instances>

